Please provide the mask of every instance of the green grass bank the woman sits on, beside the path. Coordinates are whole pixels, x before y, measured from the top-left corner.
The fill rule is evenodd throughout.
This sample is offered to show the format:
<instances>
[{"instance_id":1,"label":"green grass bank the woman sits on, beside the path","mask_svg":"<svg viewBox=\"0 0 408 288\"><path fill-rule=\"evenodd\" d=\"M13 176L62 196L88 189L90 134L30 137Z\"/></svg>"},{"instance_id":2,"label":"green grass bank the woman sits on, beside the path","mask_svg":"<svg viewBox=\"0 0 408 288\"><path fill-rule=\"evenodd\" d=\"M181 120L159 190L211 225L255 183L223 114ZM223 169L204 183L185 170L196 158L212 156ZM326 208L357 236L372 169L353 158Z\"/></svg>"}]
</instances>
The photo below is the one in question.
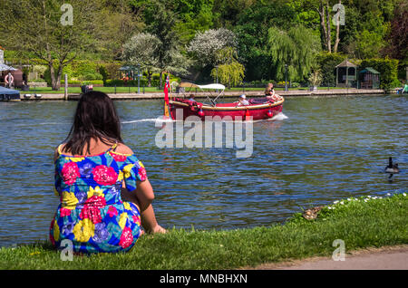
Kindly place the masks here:
<instances>
[{"instance_id":1,"label":"green grass bank the woman sits on, beside the path","mask_svg":"<svg viewBox=\"0 0 408 288\"><path fill-rule=\"evenodd\" d=\"M127 254L74 255L61 260L49 242L0 249L0 269L233 269L310 256L332 256L333 242L347 252L408 244L408 197L359 197L325 206L316 220L297 213L283 225L199 231L170 229L143 235Z\"/></svg>"}]
</instances>

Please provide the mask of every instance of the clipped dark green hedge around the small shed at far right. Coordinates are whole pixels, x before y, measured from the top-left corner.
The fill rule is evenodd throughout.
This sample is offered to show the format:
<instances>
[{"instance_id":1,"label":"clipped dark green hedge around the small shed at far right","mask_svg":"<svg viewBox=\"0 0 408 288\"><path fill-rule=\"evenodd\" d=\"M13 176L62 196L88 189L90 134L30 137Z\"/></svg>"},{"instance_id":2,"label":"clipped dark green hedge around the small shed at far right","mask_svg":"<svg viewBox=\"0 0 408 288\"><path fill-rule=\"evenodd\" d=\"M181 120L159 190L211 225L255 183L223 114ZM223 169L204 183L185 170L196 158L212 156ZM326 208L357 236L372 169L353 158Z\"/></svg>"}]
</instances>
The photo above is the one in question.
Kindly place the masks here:
<instances>
[{"instance_id":1,"label":"clipped dark green hedge around the small shed at far right","mask_svg":"<svg viewBox=\"0 0 408 288\"><path fill-rule=\"evenodd\" d=\"M389 90L401 86L398 81L398 60L396 59L364 59L360 67L361 69L373 67L380 72L380 88L382 89Z\"/></svg>"}]
</instances>

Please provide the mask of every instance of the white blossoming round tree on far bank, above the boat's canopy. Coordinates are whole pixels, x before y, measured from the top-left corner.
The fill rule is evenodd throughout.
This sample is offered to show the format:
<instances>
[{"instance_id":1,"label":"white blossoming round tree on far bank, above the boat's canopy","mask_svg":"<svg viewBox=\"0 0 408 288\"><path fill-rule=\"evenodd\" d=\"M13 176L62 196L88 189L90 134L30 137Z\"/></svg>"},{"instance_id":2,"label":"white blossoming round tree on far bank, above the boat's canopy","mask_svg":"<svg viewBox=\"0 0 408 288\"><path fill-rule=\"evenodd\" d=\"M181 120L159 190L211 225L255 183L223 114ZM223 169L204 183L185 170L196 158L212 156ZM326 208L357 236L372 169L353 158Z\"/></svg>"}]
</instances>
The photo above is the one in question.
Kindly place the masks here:
<instances>
[{"instance_id":1,"label":"white blossoming round tree on far bank, above the boat's canopy","mask_svg":"<svg viewBox=\"0 0 408 288\"><path fill-rule=\"evenodd\" d=\"M209 29L204 33L198 33L187 47L199 66L216 66L217 53L226 47L236 47L237 39L232 31L225 28Z\"/></svg>"}]
</instances>

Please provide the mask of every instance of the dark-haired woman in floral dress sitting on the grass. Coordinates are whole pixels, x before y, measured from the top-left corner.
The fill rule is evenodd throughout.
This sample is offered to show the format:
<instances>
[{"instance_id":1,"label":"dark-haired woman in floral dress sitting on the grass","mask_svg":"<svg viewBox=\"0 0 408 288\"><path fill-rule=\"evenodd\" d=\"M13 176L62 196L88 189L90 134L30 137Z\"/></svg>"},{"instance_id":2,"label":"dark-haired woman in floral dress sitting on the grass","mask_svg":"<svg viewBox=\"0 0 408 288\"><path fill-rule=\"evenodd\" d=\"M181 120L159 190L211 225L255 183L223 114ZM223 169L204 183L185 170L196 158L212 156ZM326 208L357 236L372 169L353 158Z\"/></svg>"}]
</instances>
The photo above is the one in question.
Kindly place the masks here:
<instances>
[{"instance_id":1,"label":"dark-haired woman in floral dress sitting on the grass","mask_svg":"<svg viewBox=\"0 0 408 288\"><path fill-rule=\"evenodd\" d=\"M77 253L129 251L141 225L149 233L166 232L151 206L146 170L123 144L108 95L83 94L65 140L54 152L55 194L61 199L50 227L56 248L68 239Z\"/></svg>"}]
</instances>

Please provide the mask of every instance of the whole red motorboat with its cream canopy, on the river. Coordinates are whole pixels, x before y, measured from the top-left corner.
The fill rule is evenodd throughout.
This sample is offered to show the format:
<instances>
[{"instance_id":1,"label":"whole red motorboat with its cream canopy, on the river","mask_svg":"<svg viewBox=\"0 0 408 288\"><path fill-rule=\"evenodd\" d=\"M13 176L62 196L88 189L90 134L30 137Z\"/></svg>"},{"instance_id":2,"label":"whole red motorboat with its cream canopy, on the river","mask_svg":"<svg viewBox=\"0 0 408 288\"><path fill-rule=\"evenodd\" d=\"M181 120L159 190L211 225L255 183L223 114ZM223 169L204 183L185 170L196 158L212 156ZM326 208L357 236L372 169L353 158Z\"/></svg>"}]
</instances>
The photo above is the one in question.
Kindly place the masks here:
<instances>
[{"instance_id":1,"label":"whole red motorboat with its cream canopy, on the river","mask_svg":"<svg viewBox=\"0 0 408 288\"><path fill-rule=\"evenodd\" d=\"M207 96L209 103L189 100L183 98L170 98L170 117L172 120L186 120L189 116L197 116L201 120L267 120L282 112L285 99L275 95L271 99L254 98L248 100L248 105L241 105L239 101L229 103L218 103L223 94L225 86L221 84L196 85L192 83L181 83L182 88L199 88L201 90L220 91L215 99ZM217 118L216 118L217 117Z\"/></svg>"}]
</instances>

